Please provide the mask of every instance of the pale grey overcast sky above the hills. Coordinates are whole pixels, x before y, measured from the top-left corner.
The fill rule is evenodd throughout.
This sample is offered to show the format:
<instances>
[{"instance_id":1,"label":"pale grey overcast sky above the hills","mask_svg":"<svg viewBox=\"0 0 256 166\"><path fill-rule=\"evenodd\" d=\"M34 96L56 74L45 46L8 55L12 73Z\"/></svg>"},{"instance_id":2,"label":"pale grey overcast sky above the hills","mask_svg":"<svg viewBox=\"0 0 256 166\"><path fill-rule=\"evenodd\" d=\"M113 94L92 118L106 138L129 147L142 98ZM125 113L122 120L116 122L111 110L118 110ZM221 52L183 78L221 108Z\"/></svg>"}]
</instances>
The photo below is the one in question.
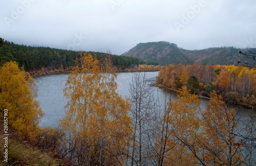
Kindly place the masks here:
<instances>
[{"instance_id":1,"label":"pale grey overcast sky above the hills","mask_svg":"<svg viewBox=\"0 0 256 166\"><path fill-rule=\"evenodd\" d=\"M0 0L0 37L121 55L140 42L256 48L255 0Z\"/></svg>"}]
</instances>

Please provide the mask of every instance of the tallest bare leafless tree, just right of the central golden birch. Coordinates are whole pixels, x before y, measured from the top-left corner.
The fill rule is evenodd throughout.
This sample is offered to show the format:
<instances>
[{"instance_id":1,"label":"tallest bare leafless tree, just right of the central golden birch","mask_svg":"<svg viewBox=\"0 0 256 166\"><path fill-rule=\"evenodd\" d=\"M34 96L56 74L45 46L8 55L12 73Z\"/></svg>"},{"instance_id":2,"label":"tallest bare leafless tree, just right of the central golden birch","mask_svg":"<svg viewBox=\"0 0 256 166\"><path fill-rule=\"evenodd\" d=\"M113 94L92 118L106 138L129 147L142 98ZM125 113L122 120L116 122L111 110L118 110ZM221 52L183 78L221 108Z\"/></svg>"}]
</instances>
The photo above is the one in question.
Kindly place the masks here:
<instances>
[{"instance_id":1,"label":"tallest bare leafless tree, just right of the central golden birch","mask_svg":"<svg viewBox=\"0 0 256 166\"><path fill-rule=\"evenodd\" d=\"M135 162L139 165L145 164L146 159L146 131L148 123L151 122L153 96L152 89L146 80L146 73L133 73L130 84L130 101L132 116L132 154L131 165Z\"/></svg>"}]
</instances>

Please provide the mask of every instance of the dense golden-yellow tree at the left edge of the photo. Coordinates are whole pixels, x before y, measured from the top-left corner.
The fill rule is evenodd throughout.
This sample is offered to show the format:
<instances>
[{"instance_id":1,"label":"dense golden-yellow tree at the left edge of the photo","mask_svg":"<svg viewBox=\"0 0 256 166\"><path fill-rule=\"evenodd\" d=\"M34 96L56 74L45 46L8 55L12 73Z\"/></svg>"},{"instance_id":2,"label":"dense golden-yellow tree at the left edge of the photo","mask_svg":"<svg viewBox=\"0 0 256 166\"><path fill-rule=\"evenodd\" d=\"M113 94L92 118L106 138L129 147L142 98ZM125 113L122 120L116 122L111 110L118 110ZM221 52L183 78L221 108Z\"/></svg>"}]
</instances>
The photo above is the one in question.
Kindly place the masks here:
<instances>
[{"instance_id":1,"label":"dense golden-yellow tree at the left edge of the photo","mask_svg":"<svg viewBox=\"0 0 256 166\"><path fill-rule=\"evenodd\" d=\"M39 107L37 86L28 73L18 69L16 62L0 67L0 110L8 109L9 127L26 138L35 136L35 129L44 112Z\"/></svg>"}]
</instances>

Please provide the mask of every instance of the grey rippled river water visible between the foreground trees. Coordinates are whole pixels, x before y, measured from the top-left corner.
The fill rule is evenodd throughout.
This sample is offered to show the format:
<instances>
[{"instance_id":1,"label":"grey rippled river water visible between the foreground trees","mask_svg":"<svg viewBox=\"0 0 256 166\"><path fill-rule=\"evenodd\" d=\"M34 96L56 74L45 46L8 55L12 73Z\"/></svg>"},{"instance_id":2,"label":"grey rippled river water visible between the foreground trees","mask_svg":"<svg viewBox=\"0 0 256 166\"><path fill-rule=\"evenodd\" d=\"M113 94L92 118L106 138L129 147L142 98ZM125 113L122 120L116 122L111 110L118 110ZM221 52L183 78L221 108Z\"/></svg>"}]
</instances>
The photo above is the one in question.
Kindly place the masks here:
<instances>
[{"instance_id":1,"label":"grey rippled river water visible between the foreground trees","mask_svg":"<svg viewBox=\"0 0 256 166\"><path fill-rule=\"evenodd\" d=\"M59 120L65 116L65 105L67 101L63 96L63 88L65 88L66 80L69 74L55 74L35 77L34 80L38 85L38 97L36 100L40 102L40 107L45 112L45 116L42 118L39 126L41 127L57 127ZM158 72L147 72L147 80L149 83L156 81ZM118 93L122 97L129 97L129 80L131 79L132 73L120 73L117 76ZM153 92L163 98L165 94L172 93L172 98L176 98L175 91L154 87ZM161 98L160 98L161 99ZM207 99L201 99L200 108L205 108ZM243 121L246 121L249 115L256 116L256 111L242 108L240 114Z\"/></svg>"}]
</instances>

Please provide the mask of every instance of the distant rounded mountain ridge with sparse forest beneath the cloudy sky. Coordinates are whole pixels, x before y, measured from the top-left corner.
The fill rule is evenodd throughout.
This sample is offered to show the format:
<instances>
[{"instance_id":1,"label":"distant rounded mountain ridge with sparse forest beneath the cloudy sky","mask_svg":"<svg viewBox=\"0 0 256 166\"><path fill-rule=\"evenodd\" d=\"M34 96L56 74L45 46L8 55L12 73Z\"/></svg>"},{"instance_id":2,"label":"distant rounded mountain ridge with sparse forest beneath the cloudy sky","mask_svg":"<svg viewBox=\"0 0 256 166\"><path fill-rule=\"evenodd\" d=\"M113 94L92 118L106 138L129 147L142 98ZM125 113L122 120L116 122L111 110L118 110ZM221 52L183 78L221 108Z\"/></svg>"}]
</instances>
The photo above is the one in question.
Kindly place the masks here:
<instances>
[{"instance_id":1,"label":"distant rounded mountain ridge with sparse forest beneath the cloudy sky","mask_svg":"<svg viewBox=\"0 0 256 166\"><path fill-rule=\"evenodd\" d=\"M249 49L256 52L256 49ZM185 50L177 44L167 41L139 43L128 52L122 54L127 57L139 58L143 61L157 62L159 65L168 64L237 64L238 61L250 62L248 58L237 55L246 50L234 47L208 48L203 50Z\"/></svg>"}]
</instances>

